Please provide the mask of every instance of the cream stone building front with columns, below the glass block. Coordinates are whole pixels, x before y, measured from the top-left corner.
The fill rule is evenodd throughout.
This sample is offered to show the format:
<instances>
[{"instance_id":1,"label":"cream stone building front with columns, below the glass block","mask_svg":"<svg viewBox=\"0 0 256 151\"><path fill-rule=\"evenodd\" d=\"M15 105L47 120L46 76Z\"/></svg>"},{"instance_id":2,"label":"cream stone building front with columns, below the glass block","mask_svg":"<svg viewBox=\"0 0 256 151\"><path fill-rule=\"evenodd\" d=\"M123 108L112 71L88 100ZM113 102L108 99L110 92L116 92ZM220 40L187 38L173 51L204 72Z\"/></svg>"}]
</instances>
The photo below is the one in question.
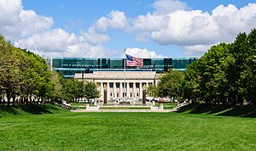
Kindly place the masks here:
<instances>
[{"instance_id":1,"label":"cream stone building front with columns, below the glass block","mask_svg":"<svg viewBox=\"0 0 256 151\"><path fill-rule=\"evenodd\" d=\"M143 98L143 88L157 85L158 77L155 71L94 71L92 74L75 74L82 81L94 81L103 99L104 87L107 88L108 100Z\"/></svg>"}]
</instances>

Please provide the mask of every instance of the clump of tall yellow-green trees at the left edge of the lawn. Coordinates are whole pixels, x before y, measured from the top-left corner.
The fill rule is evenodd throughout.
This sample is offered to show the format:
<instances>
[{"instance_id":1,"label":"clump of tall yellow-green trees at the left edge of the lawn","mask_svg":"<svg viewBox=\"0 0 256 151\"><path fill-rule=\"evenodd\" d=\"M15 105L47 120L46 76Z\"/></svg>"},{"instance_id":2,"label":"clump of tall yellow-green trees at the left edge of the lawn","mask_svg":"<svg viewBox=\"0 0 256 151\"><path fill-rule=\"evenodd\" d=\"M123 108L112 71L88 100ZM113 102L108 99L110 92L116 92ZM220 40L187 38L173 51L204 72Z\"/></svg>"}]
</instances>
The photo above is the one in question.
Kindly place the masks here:
<instances>
[{"instance_id":1,"label":"clump of tall yellow-green trees at the left edge of the lawn","mask_svg":"<svg viewBox=\"0 0 256 151\"><path fill-rule=\"evenodd\" d=\"M34 102L49 97L53 91L48 64L38 55L15 48L0 35L0 91L8 104ZM3 97L4 98L4 97ZM3 100L4 101L4 100Z\"/></svg>"}]
</instances>

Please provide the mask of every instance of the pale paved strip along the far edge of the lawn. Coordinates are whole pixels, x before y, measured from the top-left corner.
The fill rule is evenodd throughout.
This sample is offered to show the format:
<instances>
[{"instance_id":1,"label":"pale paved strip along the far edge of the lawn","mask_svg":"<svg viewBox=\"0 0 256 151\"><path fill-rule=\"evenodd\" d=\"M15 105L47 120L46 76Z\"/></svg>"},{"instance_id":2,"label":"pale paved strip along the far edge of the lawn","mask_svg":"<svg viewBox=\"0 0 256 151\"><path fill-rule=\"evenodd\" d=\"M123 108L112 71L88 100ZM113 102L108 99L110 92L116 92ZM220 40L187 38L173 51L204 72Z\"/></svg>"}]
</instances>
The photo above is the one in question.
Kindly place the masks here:
<instances>
[{"instance_id":1,"label":"pale paved strip along the far edge of the lawn","mask_svg":"<svg viewBox=\"0 0 256 151\"><path fill-rule=\"evenodd\" d=\"M87 110L87 109L71 109L72 112L173 112L173 109L98 109L98 110Z\"/></svg>"}]
</instances>

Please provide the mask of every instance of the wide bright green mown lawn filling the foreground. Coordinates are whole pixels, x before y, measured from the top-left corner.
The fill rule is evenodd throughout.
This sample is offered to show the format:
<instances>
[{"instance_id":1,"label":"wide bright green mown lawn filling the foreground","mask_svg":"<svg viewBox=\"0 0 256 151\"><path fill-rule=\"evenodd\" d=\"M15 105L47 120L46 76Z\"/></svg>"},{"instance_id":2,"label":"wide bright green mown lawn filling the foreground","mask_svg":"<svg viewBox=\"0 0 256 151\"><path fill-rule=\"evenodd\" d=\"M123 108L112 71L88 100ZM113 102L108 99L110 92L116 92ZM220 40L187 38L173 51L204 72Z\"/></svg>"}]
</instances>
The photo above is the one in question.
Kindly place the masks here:
<instances>
[{"instance_id":1,"label":"wide bright green mown lawn filling the foreground","mask_svg":"<svg viewBox=\"0 0 256 151\"><path fill-rule=\"evenodd\" d=\"M255 150L256 119L0 108L0 150Z\"/></svg>"}]
</instances>

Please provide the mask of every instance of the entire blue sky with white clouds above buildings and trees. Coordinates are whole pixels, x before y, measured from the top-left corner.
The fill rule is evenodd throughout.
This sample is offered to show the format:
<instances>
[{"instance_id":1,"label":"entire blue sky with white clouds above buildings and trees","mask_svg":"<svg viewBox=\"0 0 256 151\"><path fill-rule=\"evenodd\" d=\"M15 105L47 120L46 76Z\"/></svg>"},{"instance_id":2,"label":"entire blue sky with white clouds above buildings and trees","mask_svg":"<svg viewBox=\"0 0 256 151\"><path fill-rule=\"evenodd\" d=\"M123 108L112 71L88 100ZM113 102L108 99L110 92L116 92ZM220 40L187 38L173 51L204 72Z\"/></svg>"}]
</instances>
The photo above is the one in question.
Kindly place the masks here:
<instances>
[{"instance_id":1,"label":"entire blue sky with white clouds above buildings and trees","mask_svg":"<svg viewBox=\"0 0 256 151\"><path fill-rule=\"evenodd\" d=\"M55 57L120 58L124 48L141 58L201 56L256 27L255 3L0 0L0 33L17 47Z\"/></svg>"}]
</instances>

